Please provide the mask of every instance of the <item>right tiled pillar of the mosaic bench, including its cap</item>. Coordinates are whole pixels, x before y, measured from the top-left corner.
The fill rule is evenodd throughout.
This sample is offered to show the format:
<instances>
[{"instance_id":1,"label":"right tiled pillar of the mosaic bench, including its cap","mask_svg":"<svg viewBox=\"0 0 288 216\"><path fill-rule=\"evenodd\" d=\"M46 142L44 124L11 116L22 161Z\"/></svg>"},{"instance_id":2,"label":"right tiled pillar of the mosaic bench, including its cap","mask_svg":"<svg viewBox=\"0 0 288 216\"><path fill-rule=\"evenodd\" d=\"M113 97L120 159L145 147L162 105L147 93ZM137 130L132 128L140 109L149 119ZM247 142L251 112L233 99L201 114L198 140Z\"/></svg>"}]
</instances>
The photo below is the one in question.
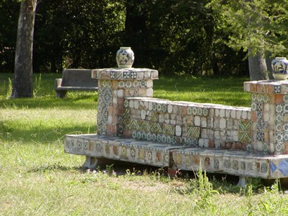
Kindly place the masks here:
<instances>
[{"instance_id":1,"label":"right tiled pillar of the mosaic bench, including its cap","mask_svg":"<svg viewBox=\"0 0 288 216\"><path fill-rule=\"evenodd\" d=\"M288 154L288 81L249 81L252 150Z\"/></svg>"}]
</instances>

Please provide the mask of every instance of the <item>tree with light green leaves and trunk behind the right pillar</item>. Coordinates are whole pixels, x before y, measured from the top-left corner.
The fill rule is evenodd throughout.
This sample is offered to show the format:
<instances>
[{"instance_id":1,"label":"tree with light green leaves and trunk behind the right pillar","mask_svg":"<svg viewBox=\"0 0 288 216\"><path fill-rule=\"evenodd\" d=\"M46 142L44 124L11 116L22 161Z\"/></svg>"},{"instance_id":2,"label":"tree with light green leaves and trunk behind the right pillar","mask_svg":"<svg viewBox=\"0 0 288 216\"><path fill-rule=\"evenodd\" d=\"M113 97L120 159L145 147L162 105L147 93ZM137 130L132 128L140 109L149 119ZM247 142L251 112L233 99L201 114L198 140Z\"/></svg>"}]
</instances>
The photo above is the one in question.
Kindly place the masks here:
<instances>
[{"instance_id":1,"label":"tree with light green leaves and trunk behind the right pillar","mask_svg":"<svg viewBox=\"0 0 288 216\"><path fill-rule=\"evenodd\" d=\"M248 51L251 80L268 79L266 55L285 51L287 41L286 0L213 0L221 26L230 32L228 45Z\"/></svg>"}]
</instances>

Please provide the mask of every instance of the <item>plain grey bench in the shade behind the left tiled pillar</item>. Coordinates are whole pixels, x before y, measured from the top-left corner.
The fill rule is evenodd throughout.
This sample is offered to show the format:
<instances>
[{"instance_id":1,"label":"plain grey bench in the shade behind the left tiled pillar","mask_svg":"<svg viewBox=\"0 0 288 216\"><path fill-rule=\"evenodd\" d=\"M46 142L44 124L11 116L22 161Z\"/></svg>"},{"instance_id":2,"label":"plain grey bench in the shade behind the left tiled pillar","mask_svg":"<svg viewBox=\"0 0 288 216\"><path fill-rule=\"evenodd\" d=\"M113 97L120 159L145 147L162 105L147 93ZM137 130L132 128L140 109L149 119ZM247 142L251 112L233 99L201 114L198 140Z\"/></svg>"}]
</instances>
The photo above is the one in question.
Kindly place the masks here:
<instances>
[{"instance_id":1,"label":"plain grey bench in the shade behind the left tiled pillar","mask_svg":"<svg viewBox=\"0 0 288 216\"><path fill-rule=\"evenodd\" d=\"M91 69L64 69L62 79L55 79L56 97L65 97L67 90L98 90L98 80L91 78L91 71Z\"/></svg>"}]
</instances>

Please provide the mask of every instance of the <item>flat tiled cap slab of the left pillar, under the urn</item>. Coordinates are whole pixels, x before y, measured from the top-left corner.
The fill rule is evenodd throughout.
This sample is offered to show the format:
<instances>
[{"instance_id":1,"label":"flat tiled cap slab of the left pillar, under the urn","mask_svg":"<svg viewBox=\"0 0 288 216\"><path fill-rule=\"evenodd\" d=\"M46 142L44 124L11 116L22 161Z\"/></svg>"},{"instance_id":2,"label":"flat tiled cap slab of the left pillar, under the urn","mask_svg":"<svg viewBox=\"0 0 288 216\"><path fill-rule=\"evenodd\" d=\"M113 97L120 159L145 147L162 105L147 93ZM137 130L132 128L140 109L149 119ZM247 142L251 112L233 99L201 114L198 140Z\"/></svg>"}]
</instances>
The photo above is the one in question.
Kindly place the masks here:
<instances>
[{"instance_id":1,"label":"flat tiled cap slab of the left pillar, under the urn","mask_svg":"<svg viewBox=\"0 0 288 216\"><path fill-rule=\"evenodd\" d=\"M92 78L105 80L158 79L158 71L147 68L93 69Z\"/></svg>"}]
</instances>

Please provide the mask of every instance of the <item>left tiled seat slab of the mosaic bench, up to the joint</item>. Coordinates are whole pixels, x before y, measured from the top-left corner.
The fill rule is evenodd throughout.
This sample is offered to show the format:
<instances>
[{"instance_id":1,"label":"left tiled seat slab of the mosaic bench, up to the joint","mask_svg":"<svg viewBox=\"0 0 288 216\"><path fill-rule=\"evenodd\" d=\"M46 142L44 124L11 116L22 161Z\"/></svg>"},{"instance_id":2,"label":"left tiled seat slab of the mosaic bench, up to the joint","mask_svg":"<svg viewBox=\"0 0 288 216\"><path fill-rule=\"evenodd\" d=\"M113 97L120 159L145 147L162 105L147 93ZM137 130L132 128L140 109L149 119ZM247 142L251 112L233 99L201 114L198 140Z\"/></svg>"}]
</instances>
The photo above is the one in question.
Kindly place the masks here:
<instances>
[{"instance_id":1,"label":"left tiled seat slab of the mosaic bench, up to the joint","mask_svg":"<svg viewBox=\"0 0 288 216\"><path fill-rule=\"evenodd\" d=\"M66 135L65 152L98 158L170 167L171 150L183 148L172 144L139 141L103 135Z\"/></svg>"}]
</instances>

